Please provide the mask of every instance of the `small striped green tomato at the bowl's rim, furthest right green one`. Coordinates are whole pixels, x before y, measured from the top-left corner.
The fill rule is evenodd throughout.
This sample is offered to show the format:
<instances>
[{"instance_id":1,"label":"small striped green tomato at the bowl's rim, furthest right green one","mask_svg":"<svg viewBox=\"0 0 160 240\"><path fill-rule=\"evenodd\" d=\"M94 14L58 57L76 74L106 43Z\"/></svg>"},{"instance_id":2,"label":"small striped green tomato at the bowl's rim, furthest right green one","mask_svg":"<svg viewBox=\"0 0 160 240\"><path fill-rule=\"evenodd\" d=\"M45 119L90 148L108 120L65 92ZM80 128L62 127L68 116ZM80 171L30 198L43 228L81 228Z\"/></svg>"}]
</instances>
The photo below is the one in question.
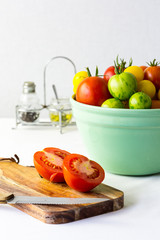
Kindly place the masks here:
<instances>
[{"instance_id":1,"label":"small striped green tomato at the bowl's rim, furthest right green one","mask_svg":"<svg viewBox=\"0 0 160 240\"><path fill-rule=\"evenodd\" d=\"M137 92L129 99L129 108L131 109L148 109L151 108L152 100L144 92Z\"/></svg>"}]
</instances>

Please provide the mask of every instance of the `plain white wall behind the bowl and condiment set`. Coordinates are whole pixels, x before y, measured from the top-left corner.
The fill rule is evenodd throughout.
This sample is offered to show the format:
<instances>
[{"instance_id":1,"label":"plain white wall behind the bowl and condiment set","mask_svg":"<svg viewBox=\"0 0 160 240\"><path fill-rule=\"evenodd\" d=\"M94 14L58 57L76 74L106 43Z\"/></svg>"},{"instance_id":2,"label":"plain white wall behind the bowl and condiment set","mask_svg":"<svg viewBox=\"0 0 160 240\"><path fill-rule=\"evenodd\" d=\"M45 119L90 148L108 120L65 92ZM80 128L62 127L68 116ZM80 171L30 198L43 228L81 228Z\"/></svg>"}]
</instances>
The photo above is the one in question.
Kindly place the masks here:
<instances>
[{"instance_id":1,"label":"plain white wall behind the bowl and condiment set","mask_svg":"<svg viewBox=\"0 0 160 240\"><path fill-rule=\"evenodd\" d=\"M43 102L43 70L54 56L73 60L94 74L119 54L135 65L160 60L159 0L0 0L0 117L14 117L24 81L34 81ZM48 69L47 101L56 84L72 94L70 63ZM61 87L60 87L61 86Z\"/></svg>"}]
</instances>

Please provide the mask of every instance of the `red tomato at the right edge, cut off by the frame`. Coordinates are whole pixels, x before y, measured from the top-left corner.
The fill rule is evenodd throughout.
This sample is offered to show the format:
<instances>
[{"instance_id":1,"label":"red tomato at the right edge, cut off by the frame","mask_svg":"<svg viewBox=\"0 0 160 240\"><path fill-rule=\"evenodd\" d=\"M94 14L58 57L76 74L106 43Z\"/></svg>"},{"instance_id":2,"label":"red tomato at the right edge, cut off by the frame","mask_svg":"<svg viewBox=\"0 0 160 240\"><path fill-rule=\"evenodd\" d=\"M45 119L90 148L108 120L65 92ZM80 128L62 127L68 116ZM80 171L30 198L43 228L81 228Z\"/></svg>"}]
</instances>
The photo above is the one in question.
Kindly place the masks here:
<instances>
[{"instance_id":1,"label":"red tomato at the right edge, cut off by the frame","mask_svg":"<svg viewBox=\"0 0 160 240\"><path fill-rule=\"evenodd\" d=\"M160 66L147 67L144 70L144 79L153 82L157 90L160 89Z\"/></svg>"}]
</instances>

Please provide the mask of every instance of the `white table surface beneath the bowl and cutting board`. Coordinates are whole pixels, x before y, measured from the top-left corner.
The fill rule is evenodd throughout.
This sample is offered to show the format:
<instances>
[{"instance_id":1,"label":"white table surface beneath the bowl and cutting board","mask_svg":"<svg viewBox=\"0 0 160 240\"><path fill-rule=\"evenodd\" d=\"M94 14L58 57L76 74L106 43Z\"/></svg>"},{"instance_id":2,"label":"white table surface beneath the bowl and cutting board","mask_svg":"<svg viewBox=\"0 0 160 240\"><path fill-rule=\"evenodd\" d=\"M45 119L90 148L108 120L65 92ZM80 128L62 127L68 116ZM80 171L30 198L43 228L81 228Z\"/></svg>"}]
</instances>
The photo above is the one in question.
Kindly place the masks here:
<instances>
[{"instance_id":1,"label":"white table surface beneath the bowl and cutting board","mask_svg":"<svg viewBox=\"0 0 160 240\"><path fill-rule=\"evenodd\" d=\"M21 165L33 165L34 152L58 147L87 156L76 127L18 128L14 119L0 119L1 157L20 157ZM0 236L4 240L160 239L160 174L145 177L106 173L104 183L125 194L123 209L67 224L45 224L8 205L0 205Z\"/></svg>"}]
</instances>

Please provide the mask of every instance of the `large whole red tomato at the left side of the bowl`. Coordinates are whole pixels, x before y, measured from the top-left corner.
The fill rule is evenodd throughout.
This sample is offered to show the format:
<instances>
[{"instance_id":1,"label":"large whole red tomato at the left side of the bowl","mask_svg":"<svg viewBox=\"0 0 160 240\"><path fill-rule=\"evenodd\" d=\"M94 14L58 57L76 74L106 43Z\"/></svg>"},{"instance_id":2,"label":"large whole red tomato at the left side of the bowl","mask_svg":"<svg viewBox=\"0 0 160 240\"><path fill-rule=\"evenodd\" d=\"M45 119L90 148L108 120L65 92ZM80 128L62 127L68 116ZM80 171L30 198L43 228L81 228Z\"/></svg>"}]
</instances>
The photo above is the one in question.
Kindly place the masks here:
<instances>
[{"instance_id":1,"label":"large whole red tomato at the left side of the bowl","mask_svg":"<svg viewBox=\"0 0 160 240\"><path fill-rule=\"evenodd\" d=\"M110 98L106 81L100 77L85 78L77 88L76 100L88 105L101 106Z\"/></svg>"}]
</instances>

